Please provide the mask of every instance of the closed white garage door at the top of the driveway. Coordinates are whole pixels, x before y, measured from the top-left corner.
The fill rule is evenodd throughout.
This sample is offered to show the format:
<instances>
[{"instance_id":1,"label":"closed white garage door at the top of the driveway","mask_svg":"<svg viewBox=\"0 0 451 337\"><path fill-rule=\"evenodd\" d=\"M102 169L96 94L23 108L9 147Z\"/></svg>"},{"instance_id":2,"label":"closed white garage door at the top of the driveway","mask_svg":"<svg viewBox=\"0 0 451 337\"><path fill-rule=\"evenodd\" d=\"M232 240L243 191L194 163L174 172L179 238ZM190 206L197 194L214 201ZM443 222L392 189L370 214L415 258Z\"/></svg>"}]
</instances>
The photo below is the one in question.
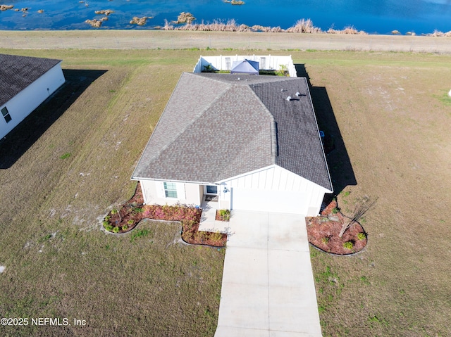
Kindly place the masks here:
<instances>
[{"instance_id":1,"label":"closed white garage door at the top of the driveway","mask_svg":"<svg viewBox=\"0 0 451 337\"><path fill-rule=\"evenodd\" d=\"M232 189L233 210L307 214L307 193Z\"/></svg>"}]
</instances>

